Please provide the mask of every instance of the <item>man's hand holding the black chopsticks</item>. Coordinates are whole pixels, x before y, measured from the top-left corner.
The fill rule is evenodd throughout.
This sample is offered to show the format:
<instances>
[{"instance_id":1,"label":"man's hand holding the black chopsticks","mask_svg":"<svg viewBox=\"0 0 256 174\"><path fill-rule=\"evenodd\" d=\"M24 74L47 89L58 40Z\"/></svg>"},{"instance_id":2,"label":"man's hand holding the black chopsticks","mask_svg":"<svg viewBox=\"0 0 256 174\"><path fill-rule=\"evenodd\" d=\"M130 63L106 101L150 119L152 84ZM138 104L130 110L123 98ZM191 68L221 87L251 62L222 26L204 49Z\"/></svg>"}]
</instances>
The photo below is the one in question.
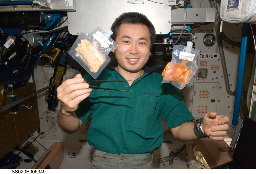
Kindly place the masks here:
<instances>
[{"instance_id":1,"label":"man's hand holding the black chopsticks","mask_svg":"<svg viewBox=\"0 0 256 174\"><path fill-rule=\"evenodd\" d=\"M61 103L62 113L72 113L78 109L78 104L87 98L92 91L81 74L75 78L68 79L57 88L57 97Z\"/></svg>"}]
</instances>

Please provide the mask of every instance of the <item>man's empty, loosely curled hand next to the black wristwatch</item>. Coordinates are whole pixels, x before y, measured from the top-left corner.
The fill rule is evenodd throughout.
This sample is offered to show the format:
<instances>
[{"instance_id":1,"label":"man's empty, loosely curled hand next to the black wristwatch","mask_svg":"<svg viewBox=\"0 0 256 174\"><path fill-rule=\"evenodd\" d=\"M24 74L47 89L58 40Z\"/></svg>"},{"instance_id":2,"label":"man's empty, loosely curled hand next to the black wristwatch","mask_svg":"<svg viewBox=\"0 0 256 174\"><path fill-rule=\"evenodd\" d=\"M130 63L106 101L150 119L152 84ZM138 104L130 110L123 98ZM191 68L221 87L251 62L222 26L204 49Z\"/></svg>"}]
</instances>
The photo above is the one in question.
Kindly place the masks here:
<instances>
[{"instance_id":1,"label":"man's empty, loosely curled hand next to the black wristwatch","mask_svg":"<svg viewBox=\"0 0 256 174\"><path fill-rule=\"evenodd\" d=\"M205 134L213 140L224 140L227 134L229 118L225 115L218 115L216 112L205 114L202 129Z\"/></svg>"}]
</instances>

